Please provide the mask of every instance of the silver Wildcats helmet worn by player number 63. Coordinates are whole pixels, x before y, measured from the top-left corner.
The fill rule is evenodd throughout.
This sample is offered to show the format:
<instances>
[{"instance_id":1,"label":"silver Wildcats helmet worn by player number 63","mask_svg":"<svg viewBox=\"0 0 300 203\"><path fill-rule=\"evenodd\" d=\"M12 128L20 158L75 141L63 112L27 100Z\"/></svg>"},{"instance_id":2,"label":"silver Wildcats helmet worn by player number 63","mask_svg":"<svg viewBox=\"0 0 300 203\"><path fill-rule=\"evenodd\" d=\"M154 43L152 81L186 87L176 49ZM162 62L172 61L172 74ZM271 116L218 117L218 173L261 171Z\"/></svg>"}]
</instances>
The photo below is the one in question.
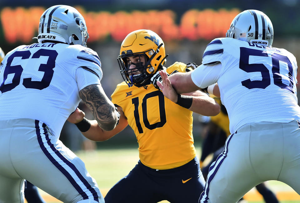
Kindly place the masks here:
<instances>
[{"instance_id":1,"label":"silver Wildcats helmet worn by player number 63","mask_svg":"<svg viewBox=\"0 0 300 203\"><path fill-rule=\"evenodd\" d=\"M59 41L87 46L88 31L83 16L73 7L56 5L41 16L37 40Z\"/></svg>"}]
</instances>

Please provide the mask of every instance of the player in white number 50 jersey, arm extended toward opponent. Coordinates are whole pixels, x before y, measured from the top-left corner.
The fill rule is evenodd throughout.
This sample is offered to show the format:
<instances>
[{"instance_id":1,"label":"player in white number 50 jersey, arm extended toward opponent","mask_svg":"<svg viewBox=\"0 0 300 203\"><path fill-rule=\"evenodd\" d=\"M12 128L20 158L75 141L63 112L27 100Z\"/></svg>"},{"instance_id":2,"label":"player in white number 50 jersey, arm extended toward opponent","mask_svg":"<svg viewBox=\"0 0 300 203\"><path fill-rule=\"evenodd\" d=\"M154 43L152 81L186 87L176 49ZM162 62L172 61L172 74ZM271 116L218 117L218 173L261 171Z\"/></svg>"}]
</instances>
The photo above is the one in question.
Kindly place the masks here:
<instances>
[{"instance_id":1,"label":"player in white number 50 jersey, arm extended toward opponent","mask_svg":"<svg viewBox=\"0 0 300 203\"><path fill-rule=\"evenodd\" d=\"M210 166L199 202L237 202L267 180L300 194L296 59L272 48L273 26L260 11L239 13L226 35L207 45L198 68L169 77L161 71L157 82L167 97L174 89L182 94L208 86L227 109L232 134Z\"/></svg>"}]
</instances>

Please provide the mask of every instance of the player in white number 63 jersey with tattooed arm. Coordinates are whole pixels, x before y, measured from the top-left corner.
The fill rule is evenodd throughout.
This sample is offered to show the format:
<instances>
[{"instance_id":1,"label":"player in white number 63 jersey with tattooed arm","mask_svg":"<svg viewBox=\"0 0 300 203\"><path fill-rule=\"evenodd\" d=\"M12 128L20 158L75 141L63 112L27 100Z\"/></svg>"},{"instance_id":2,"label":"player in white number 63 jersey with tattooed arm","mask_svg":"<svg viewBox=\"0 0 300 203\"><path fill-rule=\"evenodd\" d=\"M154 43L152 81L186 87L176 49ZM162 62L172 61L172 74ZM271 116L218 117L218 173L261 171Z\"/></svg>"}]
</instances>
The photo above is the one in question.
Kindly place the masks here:
<instances>
[{"instance_id":1,"label":"player in white number 63 jersey with tattooed arm","mask_svg":"<svg viewBox=\"0 0 300 203\"><path fill-rule=\"evenodd\" d=\"M63 202L104 202L84 163L58 139L81 100L103 130L118 122L100 83L100 59L86 47L85 20L73 7L50 7L37 39L0 66L0 202L23 203L24 179Z\"/></svg>"}]
</instances>

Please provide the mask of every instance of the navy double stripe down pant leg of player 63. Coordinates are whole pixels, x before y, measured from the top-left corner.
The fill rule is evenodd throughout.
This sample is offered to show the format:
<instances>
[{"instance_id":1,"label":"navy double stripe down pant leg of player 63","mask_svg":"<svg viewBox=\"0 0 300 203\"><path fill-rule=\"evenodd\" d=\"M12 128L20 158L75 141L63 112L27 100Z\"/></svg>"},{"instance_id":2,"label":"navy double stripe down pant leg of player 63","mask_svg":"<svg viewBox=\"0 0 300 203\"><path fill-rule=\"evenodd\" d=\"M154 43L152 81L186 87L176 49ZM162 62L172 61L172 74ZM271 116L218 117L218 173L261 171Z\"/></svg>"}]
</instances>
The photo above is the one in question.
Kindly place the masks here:
<instances>
[{"instance_id":1,"label":"navy double stripe down pant leg of player 63","mask_svg":"<svg viewBox=\"0 0 300 203\"><path fill-rule=\"evenodd\" d=\"M72 164L68 159L66 159L55 147L54 145L51 143L51 140L49 138L47 129L46 129L46 124L43 123L42 124L42 128L43 128L43 134L45 135L45 139L47 141L48 146L45 146L42 140L42 136L41 136L41 132L40 132L40 126L39 126L39 121L35 120L35 128L36 128L36 133L37 133L37 140L38 143L43 151L43 153L47 156L47 158L52 162L52 164L59 170L62 172L62 174L64 176L66 176L66 178L70 181L70 183L73 185L73 187L78 191L78 193L83 197L84 200L89 199L88 194L86 192L83 191L82 187L80 185L84 185L85 187L87 187L87 189L93 194L93 199L97 202L99 202L98 200L98 194L95 191L94 188L91 187L91 185L88 183L87 180L85 180L85 178L80 174L80 172L78 171L78 169L75 167L74 164ZM52 155L51 155L51 151L49 152L48 149L49 147L51 148L51 150L58 156L58 158L60 160L56 160ZM52 153L53 153L52 152ZM74 180L74 178L72 177L72 175L67 171L67 169L65 169L61 164L59 164L58 162L63 161L66 165L68 165L68 167L70 167L70 169L73 170L73 172L78 176L78 179L83 183L78 183L76 180ZM79 185L80 184L80 185Z\"/></svg>"}]
</instances>

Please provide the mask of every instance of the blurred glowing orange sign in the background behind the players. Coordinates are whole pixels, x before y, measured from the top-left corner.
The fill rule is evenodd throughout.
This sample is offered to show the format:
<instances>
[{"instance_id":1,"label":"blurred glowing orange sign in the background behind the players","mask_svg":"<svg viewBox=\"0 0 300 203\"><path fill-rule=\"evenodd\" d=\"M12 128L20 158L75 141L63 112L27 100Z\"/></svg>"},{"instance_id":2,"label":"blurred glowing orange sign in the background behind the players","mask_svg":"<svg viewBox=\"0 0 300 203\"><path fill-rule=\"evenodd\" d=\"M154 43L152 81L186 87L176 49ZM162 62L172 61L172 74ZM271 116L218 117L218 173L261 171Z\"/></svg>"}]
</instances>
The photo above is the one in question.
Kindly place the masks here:
<instances>
[{"instance_id":1,"label":"blurred glowing orange sign in the background behind the players","mask_svg":"<svg viewBox=\"0 0 300 203\"><path fill-rule=\"evenodd\" d=\"M111 37L122 41L125 36L137 29L150 29L164 41L173 39L214 39L224 37L232 19L240 12L238 9L218 11L192 9L185 12L176 24L176 13L171 10L149 11L106 11L85 12L77 7L86 20L91 41L103 41ZM45 8L3 8L0 13L4 38L9 43L21 41L28 43L37 36L39 18Z\"/></svg>"}]
</instances>

